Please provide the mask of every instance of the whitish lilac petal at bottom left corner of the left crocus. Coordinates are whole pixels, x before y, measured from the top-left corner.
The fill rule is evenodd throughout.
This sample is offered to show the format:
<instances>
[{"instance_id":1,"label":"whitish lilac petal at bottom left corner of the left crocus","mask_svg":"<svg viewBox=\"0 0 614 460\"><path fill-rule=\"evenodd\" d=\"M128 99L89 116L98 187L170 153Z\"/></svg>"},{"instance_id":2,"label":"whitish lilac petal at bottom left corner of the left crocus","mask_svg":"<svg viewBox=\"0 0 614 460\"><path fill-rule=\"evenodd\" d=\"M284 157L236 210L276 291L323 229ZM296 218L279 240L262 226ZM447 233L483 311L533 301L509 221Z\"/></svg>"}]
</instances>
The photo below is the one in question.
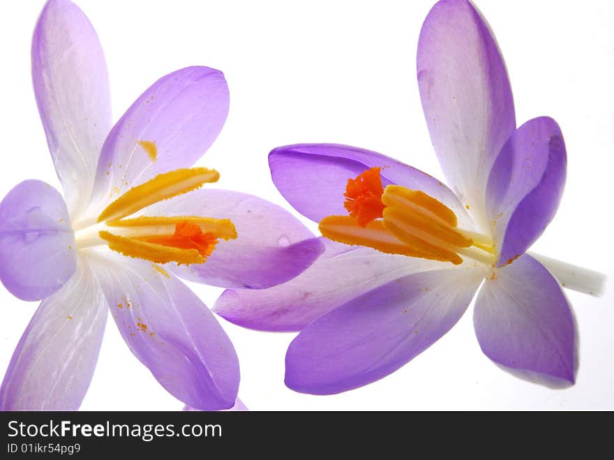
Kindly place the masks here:
<instances>
[{"instance_id":1,"label":"whitish lilac petal at bottom left corner of the left crocus","mask_svg":"<svg viewBox=\"0 0 614 460\"><path fill-rule=\"evenodd\" d=\"M41 302L15 348L0 389L0 410L77 410L91 382L107 309L91 268Z\"/></svg>"}]
</instances>

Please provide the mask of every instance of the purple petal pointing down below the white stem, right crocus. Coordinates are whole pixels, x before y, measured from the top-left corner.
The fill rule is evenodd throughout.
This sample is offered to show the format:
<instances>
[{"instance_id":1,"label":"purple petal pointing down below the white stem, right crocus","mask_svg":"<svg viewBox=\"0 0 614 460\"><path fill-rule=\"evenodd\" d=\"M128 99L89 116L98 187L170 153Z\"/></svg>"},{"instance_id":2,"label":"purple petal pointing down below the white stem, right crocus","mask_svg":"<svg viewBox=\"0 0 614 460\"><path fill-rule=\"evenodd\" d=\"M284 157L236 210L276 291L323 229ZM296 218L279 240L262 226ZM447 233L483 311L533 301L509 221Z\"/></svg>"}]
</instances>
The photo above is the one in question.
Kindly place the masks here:
<instances>
[{"instance_id":1,"label":"purple petal pointing down below the white stem, right crocus","mask_svg":"<svg viewBox=\"0 0 614 460\"><path fill-rule=\"evenodd\" d=\"M516 376L548 387L576 380L578 339L569 302L530 255L486 279L473 321L484 354Z\"/></svg>"}]
</instances>

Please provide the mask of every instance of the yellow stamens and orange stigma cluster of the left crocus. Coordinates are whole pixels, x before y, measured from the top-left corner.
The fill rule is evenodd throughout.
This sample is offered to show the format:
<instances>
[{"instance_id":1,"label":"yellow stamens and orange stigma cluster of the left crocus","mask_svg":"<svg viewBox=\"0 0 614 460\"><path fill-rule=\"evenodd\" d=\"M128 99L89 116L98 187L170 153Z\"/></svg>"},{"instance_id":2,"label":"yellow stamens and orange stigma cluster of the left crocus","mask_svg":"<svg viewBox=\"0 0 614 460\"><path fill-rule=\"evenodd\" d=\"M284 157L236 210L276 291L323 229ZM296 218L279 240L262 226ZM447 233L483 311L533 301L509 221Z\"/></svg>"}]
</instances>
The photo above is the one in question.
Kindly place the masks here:
<instances>
[{"instance_id":1,"label":"yellow stamens and orange stigma cluster of the left crocus","mask_svg":"<svg viewBox=\"0 0 614 460\"><path fill-rule=\"evenodd\" d=\"M237 230L230 219L202 216L126 217L156 202L215 182L219 177L217 171L207 168L179 169L130 188L100 213L95 225L77 227L77 247L106 244L112 251L158 264L203 263L214 251L218 239L237 238Z\"/></svg>"}]
</instances>

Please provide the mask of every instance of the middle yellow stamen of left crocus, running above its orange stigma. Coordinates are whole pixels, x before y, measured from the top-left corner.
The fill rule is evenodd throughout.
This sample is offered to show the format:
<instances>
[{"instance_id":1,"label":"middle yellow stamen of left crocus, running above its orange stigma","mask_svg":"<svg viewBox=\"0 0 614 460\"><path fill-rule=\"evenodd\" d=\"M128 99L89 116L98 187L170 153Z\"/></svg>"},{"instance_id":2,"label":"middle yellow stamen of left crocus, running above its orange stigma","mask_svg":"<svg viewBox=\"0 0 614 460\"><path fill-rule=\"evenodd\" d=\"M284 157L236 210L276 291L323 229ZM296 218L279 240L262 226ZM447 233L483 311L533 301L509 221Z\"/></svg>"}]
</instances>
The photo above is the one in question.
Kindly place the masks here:
<instances>
[{"instance_id":1,"label":"middle yellow stamen of left crocus, running above its orange stigma","mask_svg":"<svg viewBox=\"0 0 614 460\"><path fill-rule=\"evenodd\" d=\"M229 239L237 238L237 229L230 219L218 219L211 217L198 216L141 216L137 218L126 218L116 221L109 221L109 227L122 228L127 230L129 236L136 235L161 235L172 234L175 226L181 222L193 223L198 225L202 232L212 233L216 238Z\"/></svg>"}]
</instances>

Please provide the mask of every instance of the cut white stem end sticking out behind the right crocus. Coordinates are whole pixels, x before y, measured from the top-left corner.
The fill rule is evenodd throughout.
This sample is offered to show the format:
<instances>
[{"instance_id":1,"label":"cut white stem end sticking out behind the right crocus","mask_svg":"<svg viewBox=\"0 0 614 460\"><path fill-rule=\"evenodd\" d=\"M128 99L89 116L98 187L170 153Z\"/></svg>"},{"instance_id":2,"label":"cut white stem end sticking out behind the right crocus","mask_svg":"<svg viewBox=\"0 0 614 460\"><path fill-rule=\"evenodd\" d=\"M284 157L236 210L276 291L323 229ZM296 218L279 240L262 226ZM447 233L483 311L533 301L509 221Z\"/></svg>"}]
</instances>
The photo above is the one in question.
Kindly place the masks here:
<instances>
[{"instance_id":1,"label":"cut white stem end sticking out behind the right crocus","mask_svg":"<svg viewBox=\"0 0 614 460\"><path fill-rule=\"evenodd\" d=\"M546 255L528 253L541 262L564 288L600 297L604 294L607 276L578 265L571 265Z\"/></svg>"}]
</instances>

